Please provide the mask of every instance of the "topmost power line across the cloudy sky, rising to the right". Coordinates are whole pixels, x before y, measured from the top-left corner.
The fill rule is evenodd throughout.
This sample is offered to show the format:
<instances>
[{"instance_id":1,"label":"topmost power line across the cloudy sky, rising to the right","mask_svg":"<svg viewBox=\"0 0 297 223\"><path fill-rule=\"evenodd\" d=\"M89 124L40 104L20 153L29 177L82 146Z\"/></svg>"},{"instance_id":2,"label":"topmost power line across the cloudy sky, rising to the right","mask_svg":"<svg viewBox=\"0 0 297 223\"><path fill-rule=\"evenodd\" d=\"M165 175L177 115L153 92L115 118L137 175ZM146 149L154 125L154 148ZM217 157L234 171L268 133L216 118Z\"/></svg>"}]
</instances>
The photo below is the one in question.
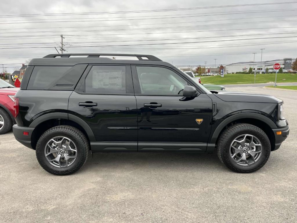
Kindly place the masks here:
<instances>
[{"instance_id":1,"label":"topmost power line across the cloudy sky, rising to the right","mask_svg":"<svg viewBox=\"0 0 297 223\"><path fill-rule=\"evenodd\" d=\"M220 6L206 6L193 8L176 8L176 9L161 9L161 10L139 10L139 11L118 11L118 12L82 12L82 13L44 13L44 14L19 14L19 15L0 15L1 17L29 17L29 16L50 16L50 15L90 15L94 13L99 14L122 14L122 13L140 13L140 12L164 12L164 11L182 11L182 10L197 10L197 9L213 9L225 7L242 7L242 6L260 6L260 5L279 5L279 4L293 4L297 1L291 2L274 2L274 3L257 3L257 4L238 4L238 5L220 5Z\"/></svg>"}]
</instances>

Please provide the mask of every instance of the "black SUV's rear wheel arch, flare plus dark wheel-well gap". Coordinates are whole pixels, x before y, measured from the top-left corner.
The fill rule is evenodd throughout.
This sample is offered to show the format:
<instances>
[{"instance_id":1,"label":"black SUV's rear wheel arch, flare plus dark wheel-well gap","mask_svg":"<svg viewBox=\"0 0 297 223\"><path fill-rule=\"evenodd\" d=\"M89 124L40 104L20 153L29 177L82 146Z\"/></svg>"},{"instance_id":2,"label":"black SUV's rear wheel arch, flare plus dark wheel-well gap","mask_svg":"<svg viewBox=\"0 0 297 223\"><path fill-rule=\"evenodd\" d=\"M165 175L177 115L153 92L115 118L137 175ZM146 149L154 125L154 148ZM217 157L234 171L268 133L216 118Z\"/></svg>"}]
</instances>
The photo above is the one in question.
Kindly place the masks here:
<instances>
[{"instance_id":1,"label":"black SUV's rear wheel arch, flare plus dark wheel-well gap","mask_svg":"<svg viewBox=\"0 0 297 223\"><path fill-rule=\"evenodd\" d=\"M82 119L67 113L45 114L35 119L29 127L34 127L31 135L31 146L35 150L40 136L48 129L58 125L70 125L78 128L85 134L89 142L96 141L93 131Z\"/></svg>"}]
</instances>

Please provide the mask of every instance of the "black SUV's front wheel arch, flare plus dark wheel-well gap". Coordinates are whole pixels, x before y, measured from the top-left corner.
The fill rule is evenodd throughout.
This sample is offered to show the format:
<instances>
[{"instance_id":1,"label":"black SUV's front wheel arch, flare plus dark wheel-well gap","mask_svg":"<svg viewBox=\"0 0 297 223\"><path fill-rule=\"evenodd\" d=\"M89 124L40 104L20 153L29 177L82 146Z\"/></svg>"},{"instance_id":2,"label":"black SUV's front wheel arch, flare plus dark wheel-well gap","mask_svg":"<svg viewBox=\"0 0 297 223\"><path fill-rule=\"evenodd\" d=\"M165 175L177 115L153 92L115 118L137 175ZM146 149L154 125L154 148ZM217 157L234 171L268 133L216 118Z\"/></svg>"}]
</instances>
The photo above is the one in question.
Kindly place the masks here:
<instances>
[{"instance_id":1,"label":"black SUV's front wheel arch, flare plus dark wheel-well gap","mask_svg":"<svg viewBox=\"0 0 297 223\"><path fill-rule=\"evenodd\" d=\"M217 144L217 140L219 139L219 136L222 134L222 132L230 125L236 123L247 123L255 125L258 128L262 129L270 140L271 150L274 150L275 136L272 128L277 128L277 126L268 117L257 113L241 113L228 117L227 119L222 121L222 123L220 123L219 126L216 128L214 134L211 137L210 143Z\"/></svg>"}]
</instances>

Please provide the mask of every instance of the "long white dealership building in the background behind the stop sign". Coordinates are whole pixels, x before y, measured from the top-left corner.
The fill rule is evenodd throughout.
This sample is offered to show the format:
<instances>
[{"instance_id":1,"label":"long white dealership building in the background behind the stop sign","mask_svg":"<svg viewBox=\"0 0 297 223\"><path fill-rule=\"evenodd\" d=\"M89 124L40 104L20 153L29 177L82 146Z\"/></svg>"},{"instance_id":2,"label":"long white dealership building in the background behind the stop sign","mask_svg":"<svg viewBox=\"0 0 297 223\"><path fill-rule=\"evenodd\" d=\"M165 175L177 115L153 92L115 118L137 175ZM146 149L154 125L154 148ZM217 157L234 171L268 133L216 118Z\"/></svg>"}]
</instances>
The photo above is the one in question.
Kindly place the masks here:
<instances>
[{"instance_id":1,"label":"long white dealership building in the background behind the stop sign","mask_svg":"<svg viewBox=\"0 0 297 223\"><path fill-rule=\"evenodd\" d=\"M284 59L277 59L277 60L270 60L270 61L262 61L261 62L238 62L234 64L226 65L226 73L235 73L235 72L247 72L250 67L254 68L255 70L265 70L268 68L269 70L273 70L273 65L275 63L279 63L282 69L290 70L292 69L292 62L295 59L292 58L284 58Z\"/></svg>"}]
</instances>

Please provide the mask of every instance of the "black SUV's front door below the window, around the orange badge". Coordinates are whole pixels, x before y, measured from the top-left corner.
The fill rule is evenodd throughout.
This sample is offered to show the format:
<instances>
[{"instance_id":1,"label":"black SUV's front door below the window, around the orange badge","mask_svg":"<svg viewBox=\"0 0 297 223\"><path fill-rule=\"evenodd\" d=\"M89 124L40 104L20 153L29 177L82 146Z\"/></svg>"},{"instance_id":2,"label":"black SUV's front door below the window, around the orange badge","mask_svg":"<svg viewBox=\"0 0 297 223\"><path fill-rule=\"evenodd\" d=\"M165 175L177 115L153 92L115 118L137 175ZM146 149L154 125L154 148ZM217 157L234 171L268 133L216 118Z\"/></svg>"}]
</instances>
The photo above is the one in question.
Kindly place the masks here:
<instances>
[{"instance_id":1,"label":"black SUV's front door below the window, around the orange badge","mask_svg":"<svg viewBox=\"0 0 297 223\"><path fill-rule=\"evenodd\" d=\"M211 131L211 99L206 94L181 99L185 98L136 95L139 151L149 150L149 147L152 150L206 150ZM145 107L146 103L158 103L162 107ZM198 124L196 119L203 121Z\"/></svg>"}]
</instances>

